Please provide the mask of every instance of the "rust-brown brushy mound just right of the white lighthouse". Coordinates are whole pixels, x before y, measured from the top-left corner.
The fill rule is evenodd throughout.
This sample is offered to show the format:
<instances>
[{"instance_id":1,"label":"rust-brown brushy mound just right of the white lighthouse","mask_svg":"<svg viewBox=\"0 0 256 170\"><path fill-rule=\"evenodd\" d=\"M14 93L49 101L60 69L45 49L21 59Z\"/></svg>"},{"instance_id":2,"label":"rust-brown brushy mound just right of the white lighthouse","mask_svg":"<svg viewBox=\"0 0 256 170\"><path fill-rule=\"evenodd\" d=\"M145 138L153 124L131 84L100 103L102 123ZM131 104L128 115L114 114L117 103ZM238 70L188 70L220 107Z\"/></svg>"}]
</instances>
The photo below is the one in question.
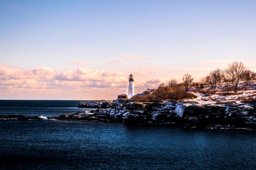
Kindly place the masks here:
<instances>
[{"instance_id":1,"label":"rust-brown brushy mound just right of the white lighthouse","mask_svg":"<svg viewBox=\"0 0 256 170\"><path fill-rule=\"evenodd\" d=\"M171 100L181 100L181 99L191 99L197 96L186 92L180 84L173 87L164 87L162 89L156 90L151 95L147 96L137 96L133 97L134 101L144 101L144 102L161 102L161 101L171 101Z\"/></svg>"}]
</instances>

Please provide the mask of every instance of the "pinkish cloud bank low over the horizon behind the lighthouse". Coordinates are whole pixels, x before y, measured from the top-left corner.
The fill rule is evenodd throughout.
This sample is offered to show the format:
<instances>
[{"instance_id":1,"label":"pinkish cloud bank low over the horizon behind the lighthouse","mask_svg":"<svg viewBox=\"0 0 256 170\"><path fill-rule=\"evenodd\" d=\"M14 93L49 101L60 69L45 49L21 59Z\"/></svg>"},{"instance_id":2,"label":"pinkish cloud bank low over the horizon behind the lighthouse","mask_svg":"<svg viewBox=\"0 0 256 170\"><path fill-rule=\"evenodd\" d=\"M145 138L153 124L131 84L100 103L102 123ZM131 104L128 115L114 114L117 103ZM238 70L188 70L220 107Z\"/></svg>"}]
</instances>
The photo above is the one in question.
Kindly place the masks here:
<instances>
[{"instance_id":1,"label":"pinkish cloud bank low over the horizon behind the lighthouse","mask_svg":"<svg viewBox=\"0 0 256 170\"><path fill-rule=\"evenodd\" d=\"M135 93L166 82L165 78L147 79L144 74L150 71L134 74ZM128 76L120 71L89 68L26 70L0 65L0 99L116 99L117 95L127 92Z\"/></svg>"}]
</instances>

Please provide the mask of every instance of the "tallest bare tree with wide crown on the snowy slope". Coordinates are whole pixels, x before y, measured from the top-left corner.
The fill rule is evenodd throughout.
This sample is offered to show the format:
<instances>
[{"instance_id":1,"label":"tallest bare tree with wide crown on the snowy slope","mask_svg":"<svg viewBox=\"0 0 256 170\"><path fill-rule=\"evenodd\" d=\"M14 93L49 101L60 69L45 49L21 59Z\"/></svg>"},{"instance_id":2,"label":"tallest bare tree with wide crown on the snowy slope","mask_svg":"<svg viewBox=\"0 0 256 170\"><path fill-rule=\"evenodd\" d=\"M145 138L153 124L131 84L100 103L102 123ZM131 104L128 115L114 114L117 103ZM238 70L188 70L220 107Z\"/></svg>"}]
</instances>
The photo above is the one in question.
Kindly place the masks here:
<instances>
[{"instance_id":1,"label":"tallest bare tree with wide crown on the snowy slope","mask_svg":"<svg viewBox=\"0 0 256 170\"><path fill-rule=\"evenodd\" d=\"M231 84L234 92L238 91L238 84L243 80L246 67L242 62L234 61L228 65L228 69L225 70L225 79Z\"/></svg>"}]
</instances>

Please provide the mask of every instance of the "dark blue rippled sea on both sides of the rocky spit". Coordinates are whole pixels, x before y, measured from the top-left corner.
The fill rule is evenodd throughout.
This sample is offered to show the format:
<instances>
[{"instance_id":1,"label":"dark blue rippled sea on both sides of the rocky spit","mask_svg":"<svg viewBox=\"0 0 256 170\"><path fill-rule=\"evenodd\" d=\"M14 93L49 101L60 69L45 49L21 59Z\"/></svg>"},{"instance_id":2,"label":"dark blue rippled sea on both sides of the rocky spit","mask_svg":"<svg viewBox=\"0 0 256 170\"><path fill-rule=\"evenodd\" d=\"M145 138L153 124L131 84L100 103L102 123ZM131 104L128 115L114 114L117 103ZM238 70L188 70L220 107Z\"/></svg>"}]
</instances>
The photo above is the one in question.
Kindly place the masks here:
<instances>
[{"instance_id":1,"label":"dark blue rippled sea on both sides of the rocky spit","mask_svg":"<svg viewBox=\"0 0 256 170\"><path fill-rule=\"evenodd\" d=\"M78 102L2 100L0 114L60 115ZM256 169L255 131L1 120L0 146L0 169Z\"/></svg>"}]
</instances>

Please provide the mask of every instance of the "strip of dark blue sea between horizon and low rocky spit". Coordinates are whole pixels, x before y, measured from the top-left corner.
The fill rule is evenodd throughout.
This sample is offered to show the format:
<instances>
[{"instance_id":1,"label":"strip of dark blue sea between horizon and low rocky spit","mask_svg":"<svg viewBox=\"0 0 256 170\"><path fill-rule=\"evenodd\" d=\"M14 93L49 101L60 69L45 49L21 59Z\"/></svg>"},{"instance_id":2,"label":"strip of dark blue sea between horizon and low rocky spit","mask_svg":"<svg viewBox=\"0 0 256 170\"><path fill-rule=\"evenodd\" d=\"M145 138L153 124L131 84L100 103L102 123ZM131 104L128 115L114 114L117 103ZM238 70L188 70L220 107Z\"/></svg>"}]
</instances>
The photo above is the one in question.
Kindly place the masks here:
<instances>
[{"instance_id":1,"label":"strip of dark blue sea between horizon and low rocky spit","mask_svg":"<svg viewBox=\"0 0 256 170\"><path fill-rule=\"evenodd\" d=\"M24 116L54 117L84 111L77 108L80 100L0 100L0 115L22 114Z\"/></svg>"}]
</instances>

